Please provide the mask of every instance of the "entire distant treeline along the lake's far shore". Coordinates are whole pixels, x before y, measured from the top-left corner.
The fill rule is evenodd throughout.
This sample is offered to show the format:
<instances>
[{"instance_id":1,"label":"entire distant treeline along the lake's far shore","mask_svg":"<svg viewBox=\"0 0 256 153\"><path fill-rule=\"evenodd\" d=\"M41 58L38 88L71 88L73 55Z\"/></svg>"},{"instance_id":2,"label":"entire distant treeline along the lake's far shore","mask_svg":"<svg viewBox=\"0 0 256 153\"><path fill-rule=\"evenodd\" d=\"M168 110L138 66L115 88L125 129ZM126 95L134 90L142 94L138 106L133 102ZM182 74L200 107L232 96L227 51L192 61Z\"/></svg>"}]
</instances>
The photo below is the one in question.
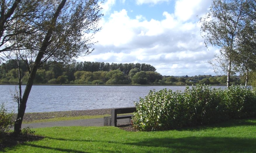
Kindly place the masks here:
<instances>
[{"instance_id":1,"label":"entire distant treeline along the lake's far shore","mask_svg":"<svg viewBox=\"0 0 256 153\"><path fill-rule=\"evenodd\" d=\"M20 62L22 83L28 80L28 68ZM108 84L108 85L225 85L227 76L162 76L150 64L116 64L104 62L48 62L36 73L35 84ZM9 60L0 65L0 83L18 83L18 64ZM240 77L231 76L231 84L243 84Z\"/></svg>"}]
</instances>

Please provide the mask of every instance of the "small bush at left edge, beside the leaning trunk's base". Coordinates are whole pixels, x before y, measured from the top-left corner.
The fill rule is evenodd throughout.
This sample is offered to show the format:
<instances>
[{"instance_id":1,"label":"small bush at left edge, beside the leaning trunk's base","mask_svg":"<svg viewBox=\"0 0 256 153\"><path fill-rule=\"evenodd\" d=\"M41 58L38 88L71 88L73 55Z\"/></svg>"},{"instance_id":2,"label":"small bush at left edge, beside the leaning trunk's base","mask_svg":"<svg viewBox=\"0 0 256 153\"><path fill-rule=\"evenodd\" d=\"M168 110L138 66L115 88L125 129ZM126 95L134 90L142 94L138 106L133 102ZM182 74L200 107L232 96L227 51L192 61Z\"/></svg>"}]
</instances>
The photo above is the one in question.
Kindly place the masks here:
<instances>
[{"instance_id":1,"label":"small bush at left edge, beside the leaning trunk's base","mask_svg":"<svg viewBox=\"0 0 256 153\"><path fill-rule=\"evenodd\" d=\"M13 112L7 112L2 103L0 106L0 135L8 132L13 127L14 121L12 120Z\"/></svg>"}]
</instances>

